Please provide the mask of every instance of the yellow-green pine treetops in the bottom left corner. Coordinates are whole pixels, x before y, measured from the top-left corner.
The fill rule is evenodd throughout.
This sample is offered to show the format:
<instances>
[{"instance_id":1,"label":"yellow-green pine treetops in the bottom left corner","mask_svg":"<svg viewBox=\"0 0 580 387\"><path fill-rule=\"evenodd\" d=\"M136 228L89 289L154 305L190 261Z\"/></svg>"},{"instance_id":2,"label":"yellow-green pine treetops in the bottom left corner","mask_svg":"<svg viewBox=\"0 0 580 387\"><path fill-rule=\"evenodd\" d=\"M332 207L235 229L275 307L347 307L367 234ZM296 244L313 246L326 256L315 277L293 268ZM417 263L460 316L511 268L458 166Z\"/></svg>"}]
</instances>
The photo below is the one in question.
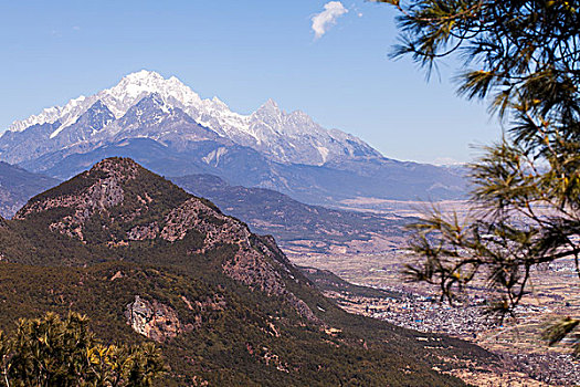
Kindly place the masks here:
<instances>
[{"instance_id":1,"label":"yellow-green pine treetops in the bottom left corner","mask_svg":"<svg viewBox=\"0 0 580 387\"><path fill-rule=\"evenodd\" d=\"M155 345L103 345L77 313L21 318L13 336L0 334L1 386L147 387L164 370Z\"/></svg>"}]
</instances>

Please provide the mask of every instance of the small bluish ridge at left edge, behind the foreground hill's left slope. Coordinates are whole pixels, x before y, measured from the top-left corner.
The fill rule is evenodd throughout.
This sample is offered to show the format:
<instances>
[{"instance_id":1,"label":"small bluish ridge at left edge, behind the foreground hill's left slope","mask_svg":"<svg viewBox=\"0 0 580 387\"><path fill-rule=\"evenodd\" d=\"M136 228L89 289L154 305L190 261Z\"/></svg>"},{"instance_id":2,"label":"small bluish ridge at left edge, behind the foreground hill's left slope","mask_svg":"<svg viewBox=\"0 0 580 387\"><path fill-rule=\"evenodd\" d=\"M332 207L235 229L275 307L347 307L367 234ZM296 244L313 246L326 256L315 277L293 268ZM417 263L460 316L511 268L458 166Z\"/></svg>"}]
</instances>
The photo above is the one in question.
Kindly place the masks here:
<instances>
[{"instance_id":1,"label":"small bluish ridge at left edge, behind the foreground hill's left slope","mask_svg":"<svg viewBox=\"0 0 580 387\"><path fill-rule=\"evenodd\" d=\"M0 161L0 216L12 217L28 199L57 184L51 177Z\"/></svg>"}]
</instances>

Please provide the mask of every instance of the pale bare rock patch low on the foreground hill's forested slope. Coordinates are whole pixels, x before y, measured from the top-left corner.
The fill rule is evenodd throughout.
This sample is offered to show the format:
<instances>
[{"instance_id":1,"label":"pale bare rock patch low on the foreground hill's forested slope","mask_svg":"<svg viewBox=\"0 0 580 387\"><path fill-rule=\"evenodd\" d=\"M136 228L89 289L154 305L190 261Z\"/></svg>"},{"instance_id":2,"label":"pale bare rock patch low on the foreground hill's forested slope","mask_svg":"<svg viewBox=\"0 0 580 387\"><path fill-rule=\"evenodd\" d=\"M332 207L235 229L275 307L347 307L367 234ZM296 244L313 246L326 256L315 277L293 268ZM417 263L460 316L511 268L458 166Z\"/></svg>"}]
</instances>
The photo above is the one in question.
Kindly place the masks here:
<instances>
[{"instance_id":1,"label":"pale bare rock patch low on the foreground hill's forested slope","mask_svg":"<svg viewBox=\"0 0 580 387\"><path fill-rule=\"evenodd\" d=\"M176 337L184 330L172 307L138 295L127 305L125 317L135 332L158 343Z\"/></svg>"}]
</instances>

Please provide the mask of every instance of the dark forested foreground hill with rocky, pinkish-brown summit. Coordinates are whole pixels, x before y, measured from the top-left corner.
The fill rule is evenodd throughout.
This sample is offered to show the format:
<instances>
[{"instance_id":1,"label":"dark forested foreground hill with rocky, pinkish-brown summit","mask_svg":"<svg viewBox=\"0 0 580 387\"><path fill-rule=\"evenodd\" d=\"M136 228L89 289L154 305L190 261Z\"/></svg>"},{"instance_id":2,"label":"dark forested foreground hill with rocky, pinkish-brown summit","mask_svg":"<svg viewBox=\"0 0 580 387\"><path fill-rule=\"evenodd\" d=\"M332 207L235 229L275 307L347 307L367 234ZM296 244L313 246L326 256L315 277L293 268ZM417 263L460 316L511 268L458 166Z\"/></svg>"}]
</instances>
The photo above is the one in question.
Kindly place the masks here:
<instances>
[{"instance_id":1,"label":"dark forested foreground hill with rocky, pinkish-brown summit","mask_svg":"<svg viewBox=\"0 0 580 387\"><path fill-rule=\"evenodd\" d=\"M31 199L0 228L0 253L2 330L75 311L105 345L154 337L169 366L161 385L461 386L432 367L495 362L458 339L347 314L273 239L128 159ZM131 325L129 307L143 317Z\"/></svg>"}]
</instances>

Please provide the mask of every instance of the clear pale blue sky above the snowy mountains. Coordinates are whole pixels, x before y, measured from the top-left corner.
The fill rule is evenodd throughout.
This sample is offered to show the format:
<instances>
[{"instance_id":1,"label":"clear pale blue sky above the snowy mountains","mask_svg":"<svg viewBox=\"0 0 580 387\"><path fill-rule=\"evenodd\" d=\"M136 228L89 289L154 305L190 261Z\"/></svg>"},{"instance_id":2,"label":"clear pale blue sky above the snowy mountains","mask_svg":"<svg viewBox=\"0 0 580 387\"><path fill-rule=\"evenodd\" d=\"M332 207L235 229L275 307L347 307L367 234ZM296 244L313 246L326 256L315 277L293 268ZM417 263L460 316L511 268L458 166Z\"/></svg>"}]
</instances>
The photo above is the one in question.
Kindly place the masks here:
<instances>
[{"instance_id":1,"label":"clear pale blue sky above the snowy mountains","mask_svg":"<svg viewBox=\"0 0 580 387\"><path fill-rule=\"evenodd\" d=\"M2 1L0 130L147 69L240 113L271 97L397 159L468 161L498 138L485 105L455 95L452 65L426 82L388 57L390 7L341 1L348 12L316 38L312 18L327 2Z\"/></svg>"}]
</instances>

